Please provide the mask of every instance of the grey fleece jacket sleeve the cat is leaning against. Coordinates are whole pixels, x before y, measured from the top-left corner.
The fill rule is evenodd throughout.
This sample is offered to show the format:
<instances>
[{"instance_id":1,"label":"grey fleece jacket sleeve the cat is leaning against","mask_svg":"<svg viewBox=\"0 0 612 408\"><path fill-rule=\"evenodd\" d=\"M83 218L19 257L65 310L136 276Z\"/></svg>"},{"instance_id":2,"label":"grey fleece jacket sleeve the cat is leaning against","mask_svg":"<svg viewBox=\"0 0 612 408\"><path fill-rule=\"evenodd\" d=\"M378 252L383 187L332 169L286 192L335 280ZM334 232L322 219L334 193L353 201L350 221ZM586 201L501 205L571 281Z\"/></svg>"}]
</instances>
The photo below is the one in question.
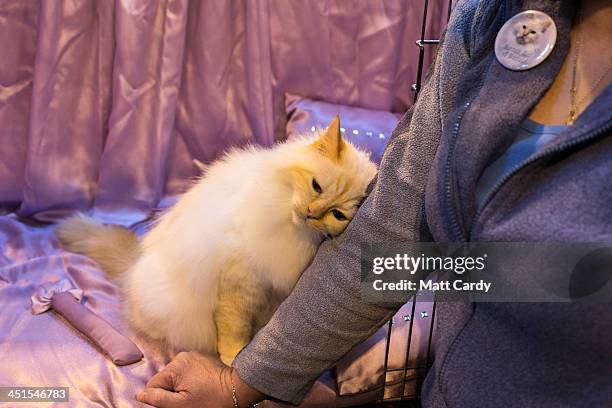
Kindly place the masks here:
<instances>
[{"instance_id":1,"label":"grey fleece jacket sleeve the cat is leaning against","mask_svg":"<svg viewBox=\"0 0 612 408\"><path fill-rule=\"evenodd\" d=\"M419 240L425 185L462 66L473 4L459 2L414 109L393 132L377 180L346 231L325 241L289 297L234 361L240 377L299 404L313 382L401 305L360 298L360 244Z\"/></svg>"}]
</instances>

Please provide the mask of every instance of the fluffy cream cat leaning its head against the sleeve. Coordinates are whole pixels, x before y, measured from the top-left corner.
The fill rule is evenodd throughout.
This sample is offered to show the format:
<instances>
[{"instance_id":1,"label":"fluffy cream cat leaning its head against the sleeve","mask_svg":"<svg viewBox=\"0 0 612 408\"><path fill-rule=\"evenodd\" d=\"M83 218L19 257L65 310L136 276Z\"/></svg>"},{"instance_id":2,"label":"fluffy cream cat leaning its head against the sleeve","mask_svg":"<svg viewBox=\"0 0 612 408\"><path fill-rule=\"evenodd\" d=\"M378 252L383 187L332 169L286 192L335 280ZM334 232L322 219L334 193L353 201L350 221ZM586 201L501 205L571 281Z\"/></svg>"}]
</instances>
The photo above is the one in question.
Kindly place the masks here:
<instances>
[{"instance_id":1,"label":"fluffy cream cat leaning its head against the sleeve","mask_svg":"<svg viewBox=\"0 0 612 408\"><path fill-rule=\"evenodd\" d=\"M346 228L375 173L342 139L336 117L313 138L231 151L142 242L84 216L65 220L57 235L120 278L135 329L230 364L321 241Z\"/></svg>"}]
</instances>

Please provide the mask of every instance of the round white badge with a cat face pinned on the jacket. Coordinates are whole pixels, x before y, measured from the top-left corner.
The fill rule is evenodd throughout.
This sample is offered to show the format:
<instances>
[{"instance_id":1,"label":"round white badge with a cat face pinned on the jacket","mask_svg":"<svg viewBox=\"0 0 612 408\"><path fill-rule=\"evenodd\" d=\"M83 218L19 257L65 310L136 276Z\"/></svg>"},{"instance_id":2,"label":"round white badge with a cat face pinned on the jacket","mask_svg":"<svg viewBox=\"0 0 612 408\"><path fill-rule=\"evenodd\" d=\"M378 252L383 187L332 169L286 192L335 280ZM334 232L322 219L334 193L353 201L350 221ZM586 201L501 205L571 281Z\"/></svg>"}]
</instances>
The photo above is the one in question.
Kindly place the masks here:
<instances>
[{"instance_id":1,"label":"round white badge with a cat face pinned on the jacket","mask_svg":"<svg viewBox=\"0 0 612 408\"><path fill-rule=\"evenodd\" d=\"M514 71L539 65L555 47L557 26L546 13L523 11L506 21L495 38L495 56Z\"/></svg>"}]
</instances>

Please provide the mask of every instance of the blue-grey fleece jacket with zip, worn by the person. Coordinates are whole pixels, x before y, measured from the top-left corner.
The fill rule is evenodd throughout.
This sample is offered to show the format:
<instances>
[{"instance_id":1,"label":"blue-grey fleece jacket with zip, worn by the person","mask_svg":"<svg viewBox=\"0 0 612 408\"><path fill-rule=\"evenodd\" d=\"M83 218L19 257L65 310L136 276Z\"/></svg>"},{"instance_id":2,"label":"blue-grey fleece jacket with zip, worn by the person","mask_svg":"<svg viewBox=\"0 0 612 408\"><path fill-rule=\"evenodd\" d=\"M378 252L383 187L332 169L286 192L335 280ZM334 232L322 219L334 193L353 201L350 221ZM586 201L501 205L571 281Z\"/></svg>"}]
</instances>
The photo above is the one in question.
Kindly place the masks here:
<instances>
[{"instance_id":1,"label":"blue-grey fleece jacket with zip, worn by the person","mask_svg":"<svg viewBox=\"0 0 612 408\"><path fill-rule=\"evenodd\" d=\"M297 404L323 371L393 315L401 305L360 298L361 243L612 241L612 87L475 211L478 177L561 67L576 5L458 2L371 194L238 355L241 378ZM524 9L555 20L557 45L538 67L508 71L494 57L495 35ZM441 303L436 314L425 407L612 406L611 305Z\"/></svg>"}]
</instances>

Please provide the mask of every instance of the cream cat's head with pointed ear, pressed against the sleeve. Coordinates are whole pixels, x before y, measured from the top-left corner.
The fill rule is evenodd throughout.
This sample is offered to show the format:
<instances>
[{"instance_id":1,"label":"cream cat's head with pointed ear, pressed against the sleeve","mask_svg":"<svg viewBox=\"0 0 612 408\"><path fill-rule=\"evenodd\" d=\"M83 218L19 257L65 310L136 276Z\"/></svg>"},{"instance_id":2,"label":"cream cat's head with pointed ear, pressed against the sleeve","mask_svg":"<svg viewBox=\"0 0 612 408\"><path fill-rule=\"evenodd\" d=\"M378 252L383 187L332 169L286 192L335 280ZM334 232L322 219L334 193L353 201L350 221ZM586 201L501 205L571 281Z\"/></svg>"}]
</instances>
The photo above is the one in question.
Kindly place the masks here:
<instances>
[{"instance_id":1,"label":"cream cat's head with pointed ear, pressed against the sleeve","mask_svg":"<svg viewBox=\"0 0 612 408\"><path fill-rule=\"evenodd\" d=\"M337 117L308 149L309 160L292 170L292 221L334 237L357 212L376 166L342 139Z\"/></svg>"}]
</instances>

